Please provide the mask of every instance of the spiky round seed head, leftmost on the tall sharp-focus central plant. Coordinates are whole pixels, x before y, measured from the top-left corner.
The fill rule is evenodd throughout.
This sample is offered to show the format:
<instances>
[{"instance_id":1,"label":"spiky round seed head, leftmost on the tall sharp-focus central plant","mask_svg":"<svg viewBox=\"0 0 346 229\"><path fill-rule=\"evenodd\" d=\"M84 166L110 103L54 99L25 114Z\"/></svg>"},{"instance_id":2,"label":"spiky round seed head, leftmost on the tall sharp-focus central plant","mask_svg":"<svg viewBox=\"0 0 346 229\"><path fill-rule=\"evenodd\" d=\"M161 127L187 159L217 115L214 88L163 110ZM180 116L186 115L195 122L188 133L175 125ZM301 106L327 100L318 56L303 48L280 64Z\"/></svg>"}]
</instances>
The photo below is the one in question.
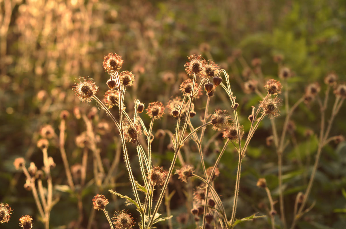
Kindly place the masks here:
<instances>
[{"instance_id":1,"label":"spiky round seed head, leftmost on the tall sharp-focus central plant","mask_svg":"<svg viewBox=\"0 0 346 229\"><path fill-rule=\"evenodd\" d=\"M82 102L91 102L91 97L99 91L93 79L88 77L80 77L78 82L75 82L76 86L72 87L75 95Z\"/></svg>"}]
</instances>

